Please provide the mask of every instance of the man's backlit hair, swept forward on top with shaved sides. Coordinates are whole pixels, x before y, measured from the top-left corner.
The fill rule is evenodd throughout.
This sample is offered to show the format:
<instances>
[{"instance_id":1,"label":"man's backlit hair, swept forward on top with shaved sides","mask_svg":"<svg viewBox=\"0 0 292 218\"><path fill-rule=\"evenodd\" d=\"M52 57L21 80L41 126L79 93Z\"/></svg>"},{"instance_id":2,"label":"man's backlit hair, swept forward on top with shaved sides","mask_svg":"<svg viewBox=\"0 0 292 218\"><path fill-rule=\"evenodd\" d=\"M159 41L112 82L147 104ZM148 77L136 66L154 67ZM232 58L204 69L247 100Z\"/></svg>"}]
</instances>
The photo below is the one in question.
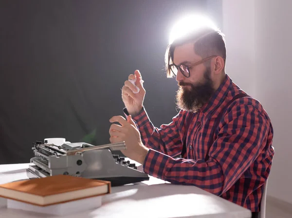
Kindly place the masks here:
<instances>
[{"instance_id":1,"label":"man's backlit hair, swept forward on top with shaved sides","mask_svg":"<svg viewBox=\"0 0 292 218\"><path fill-rule=\"evenodd\" d=\"M219 29L204 27L199 30L197 29L196 31L193 31L186 36L175 39L167 46L165 53L165 69L168 78L171 78L173 76L169 65L173 63L173 54L175 47L192 41L195 42L195 53L197 55L200 55L202 59L212 55L221 56L224 59L225 65L226 45L224 34L222 34ZM208 61L206 62L206 64L208 64Z\"/></svg>"}]
</instances>

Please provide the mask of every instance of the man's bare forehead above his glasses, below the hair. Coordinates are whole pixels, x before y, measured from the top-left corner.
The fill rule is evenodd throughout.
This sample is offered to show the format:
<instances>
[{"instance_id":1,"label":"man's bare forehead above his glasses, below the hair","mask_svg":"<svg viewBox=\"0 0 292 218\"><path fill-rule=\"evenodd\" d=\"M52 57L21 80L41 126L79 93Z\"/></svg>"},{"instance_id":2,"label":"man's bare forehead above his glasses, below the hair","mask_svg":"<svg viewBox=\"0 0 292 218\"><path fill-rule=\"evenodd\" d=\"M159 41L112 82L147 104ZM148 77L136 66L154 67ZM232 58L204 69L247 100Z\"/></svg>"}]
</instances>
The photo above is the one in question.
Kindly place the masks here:
<instances>
[{"instance_id":1,"label":"man's bare forehead above his glasses, below the hair","mask_svg":"<svg viewBox=\"0 0 292 218\"><path fill-rule=\"evenodd\" d=\"M179 65L182 62L194 62L200 60L200 56L195 54L194 42L176 46L173 53L173 62Z\"/></svg>"}]
</instances>

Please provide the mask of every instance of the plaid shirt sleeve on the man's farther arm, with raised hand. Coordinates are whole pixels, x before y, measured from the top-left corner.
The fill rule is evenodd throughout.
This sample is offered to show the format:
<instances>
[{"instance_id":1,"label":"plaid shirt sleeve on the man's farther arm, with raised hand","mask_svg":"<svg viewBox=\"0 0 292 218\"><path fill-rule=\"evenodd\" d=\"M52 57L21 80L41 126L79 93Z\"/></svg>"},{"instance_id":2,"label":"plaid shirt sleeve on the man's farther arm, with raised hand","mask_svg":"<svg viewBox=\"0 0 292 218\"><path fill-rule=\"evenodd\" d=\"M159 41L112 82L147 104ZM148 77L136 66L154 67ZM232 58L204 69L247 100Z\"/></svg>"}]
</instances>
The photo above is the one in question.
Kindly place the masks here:
<instances>
[{"instance_id":1,"label":"plaid shirt sleeve on the man's farther arm, with raised hand","mask_svg":"<svg viewBox=\"0 0 292 218\"><path fill-rule=\"evenodd\" d=\"M128 116L125 108L124 114ZM139 114L132 117L140 131L143 144L154 150L160 151L168 156L176 156L182 152L182 140L179 133L179 126L182 120L182 111L172 118L172 122L164 124L160 128L154 127L151 123L145 108Z\"/></svg>"}]
</instances>

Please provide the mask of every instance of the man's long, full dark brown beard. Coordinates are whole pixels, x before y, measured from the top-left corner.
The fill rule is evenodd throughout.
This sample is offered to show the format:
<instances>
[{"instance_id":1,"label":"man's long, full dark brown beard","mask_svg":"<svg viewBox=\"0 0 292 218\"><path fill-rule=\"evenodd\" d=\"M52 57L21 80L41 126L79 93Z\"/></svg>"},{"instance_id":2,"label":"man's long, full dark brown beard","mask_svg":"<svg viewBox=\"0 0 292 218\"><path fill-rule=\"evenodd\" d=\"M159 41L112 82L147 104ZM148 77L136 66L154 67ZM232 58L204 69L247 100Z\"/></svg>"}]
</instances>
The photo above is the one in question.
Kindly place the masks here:
<instances>
[{"instance_id":1,"label":"man's long, full dark brown beard","mask_svg":"<svg viewBox=\"0 0 292 218\"><path fill-rule=\"evenodd\" d=\"M215 92L210 74L211 72L207 68L204 72L203 82L196 84L179 82L179 90L176 95L176 104L180 109L195 113L210 100L211 96ZM189 87L182 87L187 85L190 89L187 89Z\"/></svg>"}]
</instances>

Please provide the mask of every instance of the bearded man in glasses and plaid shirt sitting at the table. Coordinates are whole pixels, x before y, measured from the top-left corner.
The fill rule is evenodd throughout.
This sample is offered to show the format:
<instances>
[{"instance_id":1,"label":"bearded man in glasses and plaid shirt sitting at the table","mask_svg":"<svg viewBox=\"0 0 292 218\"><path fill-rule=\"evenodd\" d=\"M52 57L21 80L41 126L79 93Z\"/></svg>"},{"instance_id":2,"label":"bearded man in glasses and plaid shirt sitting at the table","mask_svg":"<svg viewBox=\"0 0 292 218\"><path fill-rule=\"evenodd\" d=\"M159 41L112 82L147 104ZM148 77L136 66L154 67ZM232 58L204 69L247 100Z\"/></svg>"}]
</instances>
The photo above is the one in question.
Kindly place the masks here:
<instances>
[{"instance_id":1,"label":"bearded man in glasses and plaid shirt sitting at the table","mask_svg":"<svg viewBox=\"0 0 292 218\"><path fill-rule=\"evenodd\" d=\"M168 125L154 127L143 105L145 89L128 80L122 88L125 115L110 122L110 142L125 141L124 155L145 173L174 184L195 185L224 199L260 211L274 149L273 127L261 104L225 73L223 34L201 26L167 48L167 76L176 76L180 112ZM182 154L180 158L177 155ZM256 213L253 213L256 215Z\"/></svg>"}]
</instances>

